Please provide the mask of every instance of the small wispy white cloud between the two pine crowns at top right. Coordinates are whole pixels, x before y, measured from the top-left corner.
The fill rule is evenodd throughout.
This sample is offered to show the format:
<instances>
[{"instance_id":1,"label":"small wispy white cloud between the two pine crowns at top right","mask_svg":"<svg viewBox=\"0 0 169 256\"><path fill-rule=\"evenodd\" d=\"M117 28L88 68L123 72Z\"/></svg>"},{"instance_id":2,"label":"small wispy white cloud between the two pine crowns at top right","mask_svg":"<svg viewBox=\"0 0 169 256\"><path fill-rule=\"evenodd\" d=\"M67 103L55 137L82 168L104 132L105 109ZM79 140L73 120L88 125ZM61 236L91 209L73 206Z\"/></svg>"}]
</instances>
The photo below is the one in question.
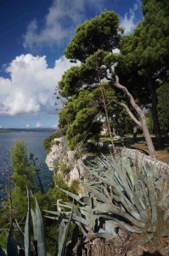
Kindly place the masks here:
<instances>
[{"instance_id":1,"label":"small wispy white cloud between the two pine crowns at top right","mask_svg":"<svg viewBox=\"0 0 169 256\"><path fill-rule=\"evenodd\" d=\"M136 20L135 14L140 5L140 1L137 0L137 2L133 4L133 7L129 9L129 12L121 17L121 26L125 29L125 34L131 33L137 25L138 21Z\"/></svg>"}]
</instances>

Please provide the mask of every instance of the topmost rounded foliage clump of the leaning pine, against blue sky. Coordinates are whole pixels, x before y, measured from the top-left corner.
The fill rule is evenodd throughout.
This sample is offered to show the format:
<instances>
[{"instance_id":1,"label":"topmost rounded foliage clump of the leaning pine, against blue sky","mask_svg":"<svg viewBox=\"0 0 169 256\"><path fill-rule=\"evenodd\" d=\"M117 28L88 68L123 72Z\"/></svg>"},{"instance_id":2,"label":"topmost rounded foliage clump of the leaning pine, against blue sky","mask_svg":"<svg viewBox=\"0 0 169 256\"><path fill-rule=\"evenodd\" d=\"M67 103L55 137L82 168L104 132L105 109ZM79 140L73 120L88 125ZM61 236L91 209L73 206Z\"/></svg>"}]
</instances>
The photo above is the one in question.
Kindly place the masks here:
<instances>
[{"instance_id":1,"label":"topmost rounded foliage clump of the leaning pine, against blue sky","mask_svg":"<svg viewBox=\"0 0 169 256\"><path fill-rule=\"evenodd\" d=\"M65 49L65 56L71 61L85 62L98 49L112 52L119 45L121 32L115 12L105 11L77 27L76 37Z\"/></svg>"}]
</instances>

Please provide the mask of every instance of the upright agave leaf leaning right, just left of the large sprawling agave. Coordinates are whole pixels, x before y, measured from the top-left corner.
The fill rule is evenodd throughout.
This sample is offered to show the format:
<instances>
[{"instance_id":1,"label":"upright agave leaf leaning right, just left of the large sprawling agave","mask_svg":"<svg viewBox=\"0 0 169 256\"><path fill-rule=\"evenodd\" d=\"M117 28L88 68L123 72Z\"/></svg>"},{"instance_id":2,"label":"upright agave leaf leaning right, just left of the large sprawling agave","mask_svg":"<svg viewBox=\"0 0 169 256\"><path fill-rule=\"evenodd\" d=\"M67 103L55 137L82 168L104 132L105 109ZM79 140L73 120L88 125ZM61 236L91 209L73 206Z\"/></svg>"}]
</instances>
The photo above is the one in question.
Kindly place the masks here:
<instances>
[{"instance_id":1,"label":"upright agave leaf leaning right, just left of the large sprawling agave","mask_svg":"<svg viewBox=\"0 0 169 256\"><path fill-rule=\"evenodd\" d=\"M74 202L73 202L73 207L74 207ZM68 231L69 231L69 228L70 228L70 223L71 223L71 219L72 219L72 215L73 215L73 207L72 207L72 210L71 210L69 221L66 224L65 229L62 230L62 236L61 236L61 239L59 241L58 256L65 256L65 246L66 246Z\"/></svg>"}]
</instances>

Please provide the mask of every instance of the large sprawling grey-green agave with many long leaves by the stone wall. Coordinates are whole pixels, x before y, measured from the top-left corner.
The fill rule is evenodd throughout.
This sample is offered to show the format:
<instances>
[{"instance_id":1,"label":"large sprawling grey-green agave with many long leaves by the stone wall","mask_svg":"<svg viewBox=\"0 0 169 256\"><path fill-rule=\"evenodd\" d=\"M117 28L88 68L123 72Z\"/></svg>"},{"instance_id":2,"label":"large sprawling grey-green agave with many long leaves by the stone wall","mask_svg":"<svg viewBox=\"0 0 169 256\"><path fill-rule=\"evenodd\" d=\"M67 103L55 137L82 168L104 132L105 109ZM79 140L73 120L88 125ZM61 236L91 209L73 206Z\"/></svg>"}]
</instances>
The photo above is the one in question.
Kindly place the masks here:
<instances>
[{"instance_id":1,"label":"large sprawling grey-green agave with many long leaves by the stone wall","mask_svg":"<svg viewBox=\"0 0 169 256\"><path fill-rule=\"evenodd\" d=\"M169 241L163 243L163 237L169 236L169 182L155 162L137 158L137 153L135 160L103 155L87 167L91 178L82 183L82 197L62 189L77 205L59 203L63 211L50 211L50 218L66 224L71 216L83 242L103 238L114 247L144 245L168 255Z\"/></svg>"}]
</instances>

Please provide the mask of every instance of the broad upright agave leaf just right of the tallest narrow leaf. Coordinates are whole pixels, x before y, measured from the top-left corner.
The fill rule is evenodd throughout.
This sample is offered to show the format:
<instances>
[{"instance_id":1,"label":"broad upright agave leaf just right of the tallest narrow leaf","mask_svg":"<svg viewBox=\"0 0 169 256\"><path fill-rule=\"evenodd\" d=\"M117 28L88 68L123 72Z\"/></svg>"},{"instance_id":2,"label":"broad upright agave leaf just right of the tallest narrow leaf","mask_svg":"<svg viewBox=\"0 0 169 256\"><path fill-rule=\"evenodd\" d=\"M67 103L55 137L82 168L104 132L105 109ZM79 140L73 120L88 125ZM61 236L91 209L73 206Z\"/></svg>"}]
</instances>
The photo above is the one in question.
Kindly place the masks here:
<instances>
[{"instance_id":1,"label":"broad upright agave leaf just right of the tallest narrow leaf","mask_svg":"<svg viewBox=\"0 0 169 256\"><path fill-rule=\"evenodd\" d=\"M47 253L46 253L46 246L45 246L42 213L36 197L35 197L35 201L36 201L36 215L37 215L37 249L38 249L39 255L46 256Z\"/></svg>"}]
</instances>

